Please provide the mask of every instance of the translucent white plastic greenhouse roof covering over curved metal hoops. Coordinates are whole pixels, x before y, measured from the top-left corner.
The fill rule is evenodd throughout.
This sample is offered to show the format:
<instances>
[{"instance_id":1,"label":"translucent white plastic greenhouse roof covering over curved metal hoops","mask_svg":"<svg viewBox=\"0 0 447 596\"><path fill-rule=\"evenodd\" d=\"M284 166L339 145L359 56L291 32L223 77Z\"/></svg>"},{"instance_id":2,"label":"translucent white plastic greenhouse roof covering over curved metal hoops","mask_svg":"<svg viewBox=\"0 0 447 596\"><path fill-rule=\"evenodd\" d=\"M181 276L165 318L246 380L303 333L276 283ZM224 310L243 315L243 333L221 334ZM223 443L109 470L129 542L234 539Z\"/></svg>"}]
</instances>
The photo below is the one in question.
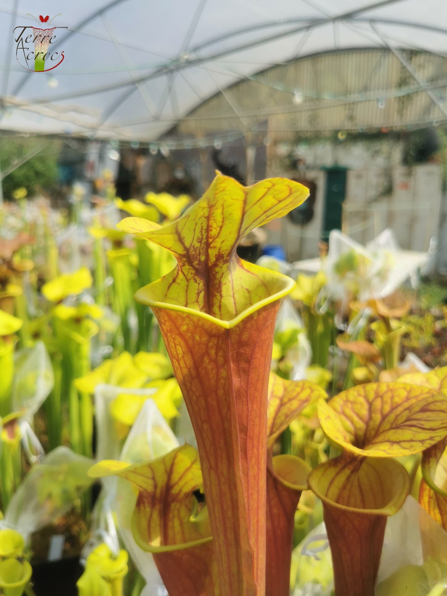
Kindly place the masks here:
<instances>
[{"instance_id":1,"label":"translucent white plastic greenhouse roof covering over curved metal hoops","mask_svg":"<svg viewBox=\"0 0 447 596\"><path fill-rule=\"evenodd\" d=\"M447 52L444 0L0 0L0 23L0 129L128 141L160 138L214 94L297 57ZM56 27L57 68L25 70L23 27Z\"/></svg>"}]
</instances>

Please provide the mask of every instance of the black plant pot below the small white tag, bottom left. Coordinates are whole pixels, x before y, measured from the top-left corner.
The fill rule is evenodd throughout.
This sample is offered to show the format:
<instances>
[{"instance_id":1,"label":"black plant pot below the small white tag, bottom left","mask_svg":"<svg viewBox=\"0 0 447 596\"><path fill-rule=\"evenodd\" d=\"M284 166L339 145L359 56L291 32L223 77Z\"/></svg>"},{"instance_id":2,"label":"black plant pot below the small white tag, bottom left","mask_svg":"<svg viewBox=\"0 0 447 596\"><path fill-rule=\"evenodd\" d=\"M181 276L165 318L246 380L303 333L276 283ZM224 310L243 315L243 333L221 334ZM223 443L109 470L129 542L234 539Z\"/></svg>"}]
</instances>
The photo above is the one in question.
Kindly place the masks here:
<instances>
[{"instance_id":1,"label":"black plant pot below the small white tag, bottom left","mask_svg":"<svg viewBox=\"0 0 447 596\"><path fill-rule=\"evenodd\" d=\"M33 564L33 590L36 596L77 596L76 582L83 568L79 557Z\"/></svg>"}]
</instances>

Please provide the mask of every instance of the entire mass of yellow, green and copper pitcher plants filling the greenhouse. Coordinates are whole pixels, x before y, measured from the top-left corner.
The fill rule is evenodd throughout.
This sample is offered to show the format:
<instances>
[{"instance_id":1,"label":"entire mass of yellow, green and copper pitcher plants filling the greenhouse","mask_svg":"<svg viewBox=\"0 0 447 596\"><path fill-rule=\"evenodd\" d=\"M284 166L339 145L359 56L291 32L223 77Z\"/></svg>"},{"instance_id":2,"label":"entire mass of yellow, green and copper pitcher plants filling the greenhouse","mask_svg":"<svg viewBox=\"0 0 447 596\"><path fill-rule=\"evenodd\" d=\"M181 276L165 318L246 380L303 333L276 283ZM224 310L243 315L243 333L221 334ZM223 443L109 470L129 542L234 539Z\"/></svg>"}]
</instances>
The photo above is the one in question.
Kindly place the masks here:
<instances>
[{"instance_id":1,"label":"entire mass of yellow, green and copper pitcher plants filling the greenhouse","mask_svg":"<svg viewBox=\"0 0 447 596\"><path fill-rule=\"evenodd\" d=\"M287 179L245 188L218 174L187 209L184 196L121 201L107 182L85 266L64 264L43 208L38 229L28 222L0 240L7 521L28 470L21 488L34 487L27 494L45 504L45 523L48 510L73 505L88 520L93 479L122 477L136 495L133 539L153 554L169 596L288 596L292 549L318 523L309 521L318 502L336 596L377 593L387 518L408 495L447 529L447 367L402 368L408 297L368 296L366 257L352 251L333 265L341 300L327 272L295 283L237 256L250 231L307 196ZM130 217L115 225L113 204ZM118 460L148 398L174 433L184 401L197 448L166 442L160 457ZM92 465L95 420L104 459ZM59 467L36 480L52 455ZM70 501L59 484L72 486ZM29 582L24 543L17 527L0 529L4 594ZM446 562L433 560L443 581ZM95 542L79 594L127 594L128 564L125 550ZM441 586L427 567L417 573L411 594ZM399 596L404 576L382 582L380 595Z\"/></svg>"}]
</instances>

